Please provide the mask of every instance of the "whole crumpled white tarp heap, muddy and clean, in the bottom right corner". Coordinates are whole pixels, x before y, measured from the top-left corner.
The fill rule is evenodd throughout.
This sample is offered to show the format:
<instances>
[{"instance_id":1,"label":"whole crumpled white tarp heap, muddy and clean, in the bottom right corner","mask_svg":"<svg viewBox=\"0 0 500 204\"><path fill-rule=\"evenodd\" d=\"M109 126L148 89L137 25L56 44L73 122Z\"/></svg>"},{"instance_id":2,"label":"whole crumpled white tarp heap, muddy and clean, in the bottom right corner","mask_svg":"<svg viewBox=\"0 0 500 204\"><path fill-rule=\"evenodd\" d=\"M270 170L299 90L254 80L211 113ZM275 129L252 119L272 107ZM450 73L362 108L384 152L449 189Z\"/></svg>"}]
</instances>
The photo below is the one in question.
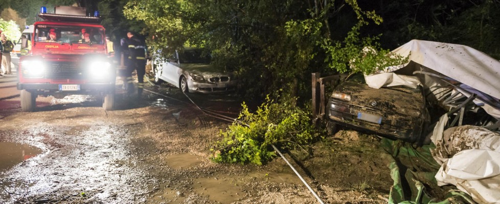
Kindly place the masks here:
<instances>
[{"instance_id":1,"label":"whole crumpled white tarp heap, muddy and clean, in the bottom right corner","mask_svg":"<svg viewBox=\"0 0 500 204\"><path fill-rule=\"evenodd\" d=\"M478 203L500 204L500 134L473 125L444 130L447 122L445 114L431 137L431 154L441 164L438 185L457 186Z\"/></svg>"}]
</instances>

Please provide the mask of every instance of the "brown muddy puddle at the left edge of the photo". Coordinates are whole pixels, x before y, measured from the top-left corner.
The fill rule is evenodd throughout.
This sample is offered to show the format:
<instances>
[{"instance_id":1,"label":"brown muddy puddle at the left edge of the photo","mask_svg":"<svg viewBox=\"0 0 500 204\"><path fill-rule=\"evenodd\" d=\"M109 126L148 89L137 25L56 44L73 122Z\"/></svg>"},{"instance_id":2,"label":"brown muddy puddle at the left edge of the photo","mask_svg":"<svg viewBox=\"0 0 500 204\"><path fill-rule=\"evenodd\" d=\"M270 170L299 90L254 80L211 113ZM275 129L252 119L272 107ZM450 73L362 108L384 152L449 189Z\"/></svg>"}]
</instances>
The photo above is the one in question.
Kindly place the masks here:
<instances>
[{"instance_id":1,"label":"brown muddy puddle at the left edge of the photo","mask_svg":"<svg viewBox=\"0 0 500 204\"><path fill-rule=\"evenodd\" d=\"M41 154L38 147L12 142L0 142L0 171Z\"/></svg>"}]
</instances>

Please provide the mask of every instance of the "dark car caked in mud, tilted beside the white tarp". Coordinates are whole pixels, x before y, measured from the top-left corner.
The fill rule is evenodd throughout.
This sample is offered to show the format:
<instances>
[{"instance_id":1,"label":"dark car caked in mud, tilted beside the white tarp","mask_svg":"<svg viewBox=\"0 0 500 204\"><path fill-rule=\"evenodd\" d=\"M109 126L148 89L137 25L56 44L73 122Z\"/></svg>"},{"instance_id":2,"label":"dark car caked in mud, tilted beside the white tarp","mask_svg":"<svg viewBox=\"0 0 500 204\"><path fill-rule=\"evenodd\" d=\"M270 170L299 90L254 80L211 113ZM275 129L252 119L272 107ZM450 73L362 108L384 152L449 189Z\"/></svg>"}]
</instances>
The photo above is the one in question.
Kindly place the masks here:
<instances>
[{"instance_id":1,"label":"dark car caked in mud, tilted beside the white tarp","mask_svg":"<svg viewBox=\"0 0 500 204\"><path fill-rule=\"evenodd\" d=\"M408 142L420 138L429 118L421 86L374 89L362 74L334 88L327 110L334 124Z\"/></svg>"}]
</instances>

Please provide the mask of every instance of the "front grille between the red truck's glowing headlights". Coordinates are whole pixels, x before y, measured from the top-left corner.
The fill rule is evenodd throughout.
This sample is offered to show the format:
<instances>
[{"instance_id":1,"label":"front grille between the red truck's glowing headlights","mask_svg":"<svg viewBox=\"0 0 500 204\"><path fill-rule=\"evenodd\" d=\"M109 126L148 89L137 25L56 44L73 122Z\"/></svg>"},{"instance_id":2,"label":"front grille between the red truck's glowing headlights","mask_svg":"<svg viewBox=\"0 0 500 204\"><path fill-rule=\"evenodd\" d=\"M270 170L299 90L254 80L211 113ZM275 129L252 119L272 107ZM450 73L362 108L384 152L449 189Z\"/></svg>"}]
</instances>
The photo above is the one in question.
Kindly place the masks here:
<instances>
[{"instance_id":1,"label":"front grille between the red truck's glowing headlights","mask_svg":"<svg viewBox=\"0 0 500 204\"><path fill-rule=\"evenodd\" d=\"M82 79L83 70L76 62L50 62L46 72L48 79Z\"/></svg>"}]
</instances>

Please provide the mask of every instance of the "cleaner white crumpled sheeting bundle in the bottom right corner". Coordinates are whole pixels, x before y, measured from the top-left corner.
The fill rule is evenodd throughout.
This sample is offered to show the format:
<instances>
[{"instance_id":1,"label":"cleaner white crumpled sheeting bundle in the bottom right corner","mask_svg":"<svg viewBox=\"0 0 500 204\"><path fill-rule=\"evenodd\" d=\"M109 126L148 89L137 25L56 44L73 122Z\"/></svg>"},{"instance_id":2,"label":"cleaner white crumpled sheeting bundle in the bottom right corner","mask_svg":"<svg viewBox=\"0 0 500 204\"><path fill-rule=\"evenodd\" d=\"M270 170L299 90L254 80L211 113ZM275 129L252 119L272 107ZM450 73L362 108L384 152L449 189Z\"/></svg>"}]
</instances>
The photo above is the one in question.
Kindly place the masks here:
<instances>
[{"instance_id":1,"label":"cleaner white crumpled sheeting bundle in the bottom right corner","mask_svg":"<svg viewBox=\"0 0 500 204\"><path fill-rule=\"evenodd\" d=\"M441 166L435 177L439 186L457 186L478 203L500 203L500 152L460 151Z\"/></svg>"}]
</instances>

